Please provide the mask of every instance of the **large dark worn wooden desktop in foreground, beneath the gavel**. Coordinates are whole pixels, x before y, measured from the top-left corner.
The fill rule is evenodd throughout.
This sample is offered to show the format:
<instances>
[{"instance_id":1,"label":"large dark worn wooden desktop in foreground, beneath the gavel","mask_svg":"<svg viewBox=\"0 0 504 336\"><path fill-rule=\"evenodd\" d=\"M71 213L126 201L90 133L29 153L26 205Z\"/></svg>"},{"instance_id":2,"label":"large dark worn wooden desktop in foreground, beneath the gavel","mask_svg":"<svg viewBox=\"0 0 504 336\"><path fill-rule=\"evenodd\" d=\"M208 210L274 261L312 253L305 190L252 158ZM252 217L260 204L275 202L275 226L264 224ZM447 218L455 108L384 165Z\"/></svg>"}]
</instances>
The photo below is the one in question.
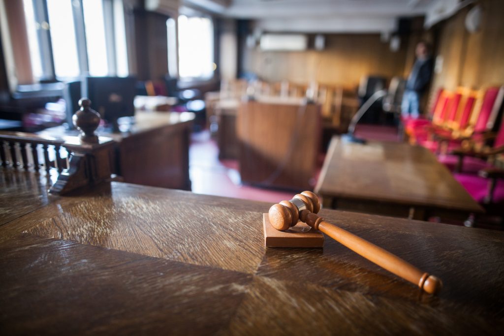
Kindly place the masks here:
<instances>
[{"instance_id":1,"label":"large dark worn wooden desktop in foreground, beneath the gavel","mask_svg":"<svg viewBox=\"0 0 504 336\"><path fill-rule=\"evenodd\" d=\"M56 197L0 226L2 332L501 334L503 232L321 212L439 276L430 297L331 239L265 248L270 206L118 182Z\"/></svg>"}]
</instances>

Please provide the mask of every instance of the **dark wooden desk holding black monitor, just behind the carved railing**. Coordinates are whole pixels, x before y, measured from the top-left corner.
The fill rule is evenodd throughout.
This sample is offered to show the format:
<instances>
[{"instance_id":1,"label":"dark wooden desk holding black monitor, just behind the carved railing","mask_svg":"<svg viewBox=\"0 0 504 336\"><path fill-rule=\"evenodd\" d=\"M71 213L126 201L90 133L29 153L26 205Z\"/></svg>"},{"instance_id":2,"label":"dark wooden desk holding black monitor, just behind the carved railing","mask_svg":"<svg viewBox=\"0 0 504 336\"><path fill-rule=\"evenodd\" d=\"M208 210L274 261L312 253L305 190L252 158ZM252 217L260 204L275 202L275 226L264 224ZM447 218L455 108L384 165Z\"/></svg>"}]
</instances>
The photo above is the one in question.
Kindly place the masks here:
<instances>
[{"instance_id":1,"label":"dark wooden desk holding black monitor, just behind the carved railing","mask_svg":"<svg viewBox=\"0 0 504 336\"><path fill-rule=\"evenodd\" d=\"M135 123L127 131L111 133L98 128L96 133L115 140L115 173L124 182L191 190L189 178L189 145L194 120L190 112L135 113ZM47 136L77 135L53 127L40 132Z\"/></svg>"}]
</instances>

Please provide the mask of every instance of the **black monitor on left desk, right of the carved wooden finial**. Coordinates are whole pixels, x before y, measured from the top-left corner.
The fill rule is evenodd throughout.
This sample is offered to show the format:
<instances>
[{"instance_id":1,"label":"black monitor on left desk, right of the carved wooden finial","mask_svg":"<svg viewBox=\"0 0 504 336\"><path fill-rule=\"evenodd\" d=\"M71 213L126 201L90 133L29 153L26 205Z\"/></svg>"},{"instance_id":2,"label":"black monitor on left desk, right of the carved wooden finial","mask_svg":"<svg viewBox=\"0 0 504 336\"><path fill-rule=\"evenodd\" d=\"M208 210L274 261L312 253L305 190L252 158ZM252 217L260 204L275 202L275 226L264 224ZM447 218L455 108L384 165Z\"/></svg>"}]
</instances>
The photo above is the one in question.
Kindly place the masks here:
<instances>
[{"instance_id":1,"label":"black monitor on left desk, right of the carved wooden finial","mask_svg":"<svg viewBox=\"0 0 504 336\"><path fill-rule=\"evenodd\" d=\"M136 78L88 77L86 80L91 108L103 119L114 122L120 117L135 115Z\"/></svg>"}]
</instances>

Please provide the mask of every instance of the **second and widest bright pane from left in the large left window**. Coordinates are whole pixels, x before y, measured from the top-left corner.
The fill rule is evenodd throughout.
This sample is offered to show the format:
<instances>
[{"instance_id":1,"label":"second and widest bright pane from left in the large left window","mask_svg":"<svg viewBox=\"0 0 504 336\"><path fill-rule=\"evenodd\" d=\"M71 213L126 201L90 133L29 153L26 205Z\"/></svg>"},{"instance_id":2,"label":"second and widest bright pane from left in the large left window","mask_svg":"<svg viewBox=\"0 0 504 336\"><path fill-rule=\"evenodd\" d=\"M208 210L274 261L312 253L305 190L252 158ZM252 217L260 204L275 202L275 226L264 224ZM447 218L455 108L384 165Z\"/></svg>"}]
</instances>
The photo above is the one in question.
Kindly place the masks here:
<instances>
[{"instance_id":1,"label":"second and widest bright pane from left in the large left window","mask_svg":"<svg viewBox=\"0 0 504 336\"><path fill-rule=\"evenodd\" d=\"M79 76L72 1L47 0L52 55L56 77Z\"/></svg>"}]
</instances>

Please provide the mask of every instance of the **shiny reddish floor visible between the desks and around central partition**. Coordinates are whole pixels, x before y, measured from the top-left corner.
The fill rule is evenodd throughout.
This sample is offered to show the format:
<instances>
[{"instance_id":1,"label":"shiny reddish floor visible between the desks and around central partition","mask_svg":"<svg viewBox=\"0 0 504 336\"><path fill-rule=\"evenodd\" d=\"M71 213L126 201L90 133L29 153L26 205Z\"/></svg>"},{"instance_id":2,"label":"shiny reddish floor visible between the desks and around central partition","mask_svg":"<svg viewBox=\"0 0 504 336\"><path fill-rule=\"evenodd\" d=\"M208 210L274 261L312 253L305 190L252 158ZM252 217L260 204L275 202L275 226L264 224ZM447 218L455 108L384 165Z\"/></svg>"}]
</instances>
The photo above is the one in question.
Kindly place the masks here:
<instances>
[{"instance_id":1,"label":"shiny reddish floor visible between the desks and around central partition","mask_svg":"<svg viewBox=\"0 0 504 336\"><path fill-rule=\"evenodd\" d=\"M391 126L358 125L355 135L366 140L398 141L397 128ZM261 200L278 203L291 199L292 191L270 190L242 185L238 171L237 160L219 160L219 149L211 138L210 131L193 133L189 151L189 174L192 189L195 193ZM324 162L324 156L319 159L318 178Z\"/></svg>"}]
</instances>

